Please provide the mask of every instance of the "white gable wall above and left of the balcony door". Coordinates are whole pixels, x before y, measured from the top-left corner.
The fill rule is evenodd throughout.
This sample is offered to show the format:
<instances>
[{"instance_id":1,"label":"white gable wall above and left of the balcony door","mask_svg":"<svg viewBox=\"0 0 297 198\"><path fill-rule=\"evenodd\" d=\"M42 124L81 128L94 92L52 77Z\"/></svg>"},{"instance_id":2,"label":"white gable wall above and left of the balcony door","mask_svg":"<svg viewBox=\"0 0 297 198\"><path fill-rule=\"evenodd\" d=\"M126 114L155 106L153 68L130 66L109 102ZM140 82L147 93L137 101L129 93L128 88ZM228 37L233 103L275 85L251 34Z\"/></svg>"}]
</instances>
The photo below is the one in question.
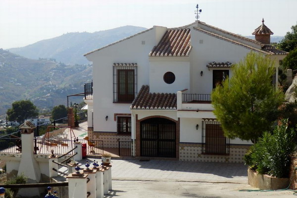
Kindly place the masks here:
<instances>
[{"instance_id":1,"label":"white gable wall above and left of the balcony door","mask_svg":"<svg viewBox=\"0 0 297 198\"><path fill-rule=\"evenodd\" d=\"M200 44L199 40L203 43ZM250 49L217 39L196 30L191 30L192 50L190 53L190 89L188 93L211 94L212 70L229 69L229 77L232 76L231 68L207 68L206 64L212 61L236 63L243 59ZM200 76L200 72L203 75Z\"/></svg>"}]
</instances>

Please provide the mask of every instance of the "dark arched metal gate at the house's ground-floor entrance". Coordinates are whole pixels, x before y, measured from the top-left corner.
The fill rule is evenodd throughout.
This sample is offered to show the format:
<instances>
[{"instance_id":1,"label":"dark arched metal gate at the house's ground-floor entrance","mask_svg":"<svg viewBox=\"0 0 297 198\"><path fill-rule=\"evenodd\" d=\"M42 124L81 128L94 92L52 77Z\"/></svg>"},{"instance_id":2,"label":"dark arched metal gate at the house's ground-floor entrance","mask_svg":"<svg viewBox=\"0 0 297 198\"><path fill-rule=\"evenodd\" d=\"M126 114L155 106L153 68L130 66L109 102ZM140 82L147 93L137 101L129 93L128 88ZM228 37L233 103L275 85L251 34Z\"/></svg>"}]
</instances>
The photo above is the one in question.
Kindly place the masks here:
<instances>
[{"instance_id":1,"label":"dark arched metal gate at the house's ground-floor entrance","mask_svg":"<svg viewBox=\"0 0 297 198\"><path fill-rule=\"evenodd\" d=\"M176 157L176 123L165 118L141 122L141 156Z\"/></svg>"}]
</instances>

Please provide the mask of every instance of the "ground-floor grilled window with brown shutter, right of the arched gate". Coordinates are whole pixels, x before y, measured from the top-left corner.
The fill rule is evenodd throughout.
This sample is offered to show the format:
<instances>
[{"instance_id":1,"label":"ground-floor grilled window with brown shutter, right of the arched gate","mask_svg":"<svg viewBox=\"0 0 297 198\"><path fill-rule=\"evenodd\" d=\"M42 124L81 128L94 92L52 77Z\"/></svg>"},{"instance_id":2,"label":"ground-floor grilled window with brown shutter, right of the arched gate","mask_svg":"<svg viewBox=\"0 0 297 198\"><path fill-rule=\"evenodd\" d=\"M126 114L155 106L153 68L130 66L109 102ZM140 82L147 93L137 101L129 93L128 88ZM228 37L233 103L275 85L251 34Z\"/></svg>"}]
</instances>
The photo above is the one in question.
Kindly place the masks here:
<instances>
[{"instance_id":1,"label":"ground-floor grilled window with brown shutter, right of the arched gate","mask_svg":"<svg viewBox=\"0 0 297 198\"><path fill-rule=\"evenodd\" d=\"M202 154L230 153L230 139L224 136L220 122L216 120L202 121Z\"/></svg>"}]
</instances>

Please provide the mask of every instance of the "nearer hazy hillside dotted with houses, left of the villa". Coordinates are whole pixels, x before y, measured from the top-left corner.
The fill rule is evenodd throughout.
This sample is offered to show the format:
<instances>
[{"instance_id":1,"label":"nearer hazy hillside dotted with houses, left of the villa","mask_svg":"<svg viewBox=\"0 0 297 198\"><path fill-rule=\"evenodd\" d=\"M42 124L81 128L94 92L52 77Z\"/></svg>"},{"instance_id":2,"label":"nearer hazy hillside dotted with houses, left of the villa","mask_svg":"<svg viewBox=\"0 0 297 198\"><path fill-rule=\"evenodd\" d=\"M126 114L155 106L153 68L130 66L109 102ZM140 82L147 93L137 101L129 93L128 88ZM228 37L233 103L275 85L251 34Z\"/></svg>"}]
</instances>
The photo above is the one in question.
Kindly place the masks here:
<instances>
[{"instance_id":1,"label":"nearer hazy hillside dotted with houses, left of the villa","mask_svg":"<svg viewBox=\"0 0 297 198\"><path fill-rule=\"evenodd\" d=\"M67 103L67 95L84 92L91 65L67 66L49 59L29 59L0 49L0 115L15 100L30 99L40 109ZM76 98L76 99L75 99ZM81 101L81 97L72 101Z\"/></svg>"}]
</instances>

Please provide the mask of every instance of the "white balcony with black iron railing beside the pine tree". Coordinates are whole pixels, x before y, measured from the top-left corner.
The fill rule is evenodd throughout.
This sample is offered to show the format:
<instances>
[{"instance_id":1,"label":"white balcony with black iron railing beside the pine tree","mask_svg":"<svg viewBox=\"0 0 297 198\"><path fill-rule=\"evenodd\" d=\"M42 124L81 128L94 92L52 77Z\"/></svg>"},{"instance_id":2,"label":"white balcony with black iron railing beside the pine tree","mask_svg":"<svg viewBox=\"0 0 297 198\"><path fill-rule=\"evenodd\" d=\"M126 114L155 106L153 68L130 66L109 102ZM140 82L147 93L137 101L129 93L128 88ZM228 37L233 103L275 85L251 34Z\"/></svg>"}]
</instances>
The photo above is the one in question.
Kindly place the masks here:
<instances>
[{"instance_id":1,"label":"white balcony with black iron railing beside the pine tree","mask_svg":"<svg viewBox=\"0 0 297 198\"><path fill-rule=\"evenodd\" d=\"M191 94L188 89L177 92L178 117L215 118L210 94Z\"/></svg>"}]
</instances>

